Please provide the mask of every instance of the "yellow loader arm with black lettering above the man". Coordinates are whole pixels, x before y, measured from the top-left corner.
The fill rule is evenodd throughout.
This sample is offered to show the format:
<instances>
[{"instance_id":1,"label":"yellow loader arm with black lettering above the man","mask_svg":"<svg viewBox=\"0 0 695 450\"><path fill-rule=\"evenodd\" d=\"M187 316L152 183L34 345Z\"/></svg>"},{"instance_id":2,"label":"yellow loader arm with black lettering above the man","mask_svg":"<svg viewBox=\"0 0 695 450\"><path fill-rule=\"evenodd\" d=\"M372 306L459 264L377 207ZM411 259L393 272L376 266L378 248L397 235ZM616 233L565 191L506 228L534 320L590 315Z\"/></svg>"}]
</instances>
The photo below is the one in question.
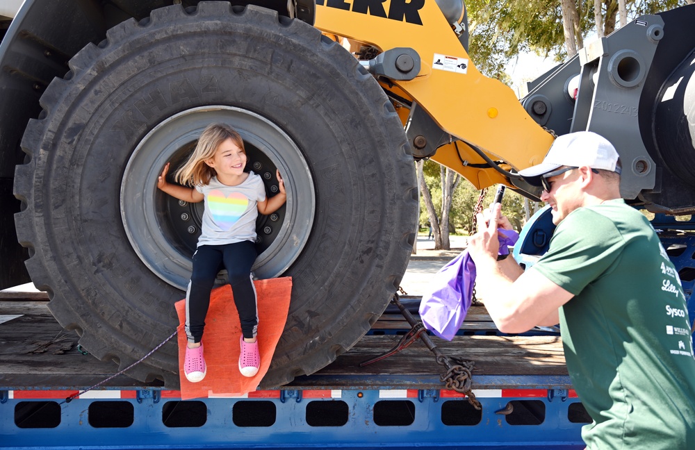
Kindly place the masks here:
<instances>
[{"instance_id":1,"label":"yellow loader arm with black lettering above the man","mask_svg":"<svg viewBox=\"0 0 695 450\"><path fill-rule=\"evenodd\" d=\"M514 92L475 68L456 33L434 1L370 3L318 0L316 24L324 33L343 36L380 51L410 48L420 58L411 80L393 80L446 133L463 142L446 144L433 160L463 175L476 188L509 185L505 176L484 165L471 145L516 171L539 163L553 136L526 113ZM361 11L366 11L361 12ZM441 57L464 61L465 69L437 69ZM440 66L441 67L441 66ZM454 65L455 67L455 65ZM519 136L523 136L520 139Z\"/></svg>"}]
</instances>

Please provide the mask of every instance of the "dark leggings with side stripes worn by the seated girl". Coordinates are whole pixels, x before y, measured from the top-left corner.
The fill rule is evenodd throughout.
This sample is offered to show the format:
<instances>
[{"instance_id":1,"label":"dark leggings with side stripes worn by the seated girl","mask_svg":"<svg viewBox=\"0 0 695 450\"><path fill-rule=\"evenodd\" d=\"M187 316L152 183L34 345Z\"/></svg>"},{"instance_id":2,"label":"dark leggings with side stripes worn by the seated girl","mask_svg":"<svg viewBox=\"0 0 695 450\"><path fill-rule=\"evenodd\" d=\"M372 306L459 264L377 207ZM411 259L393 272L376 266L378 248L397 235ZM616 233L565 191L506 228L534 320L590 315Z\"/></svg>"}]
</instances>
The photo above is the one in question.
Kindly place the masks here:
<instances>
[{"instance_id":1,"label":"dark leggings with side stripes worn by the seated girl","mask_svg":"<svg viewBox=\"0 0 695 450\"><path fill-rule=\"evenodd\" d=\"M205 316L210 306L210 292L215 277L227 269L234 303L239 312L241 333L251 339L256 335L259 318L256 287L251 267L256 260L256 245L251 241L225 245L201 245L193 254L193 274L186 291L186 335L188 342L200 342Z\"/></svg>"}]
</instances>

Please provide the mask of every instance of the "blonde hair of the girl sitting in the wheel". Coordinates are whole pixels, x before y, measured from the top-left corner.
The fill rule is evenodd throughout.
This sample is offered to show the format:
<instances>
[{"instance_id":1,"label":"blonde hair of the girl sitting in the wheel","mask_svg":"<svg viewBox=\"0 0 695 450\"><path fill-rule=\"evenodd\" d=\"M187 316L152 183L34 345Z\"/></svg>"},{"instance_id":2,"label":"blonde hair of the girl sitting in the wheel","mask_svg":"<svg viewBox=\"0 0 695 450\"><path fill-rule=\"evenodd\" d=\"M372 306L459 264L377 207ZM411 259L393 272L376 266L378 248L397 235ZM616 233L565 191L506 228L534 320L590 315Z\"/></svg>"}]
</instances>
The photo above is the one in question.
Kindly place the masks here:
<instances>
[{"instance_id":1,"label":"blonde hair of the girl sitting in the wheel","mask_svg":"<svg viewBox=\"0 0 695 450\"><path fill-rule=\"evenodd\" d=\"M186 164L179 167L174 175L177 183L191 186L210 183L210 179L217 175L217 172L205 161L213 158L220 144L227 139L231 139L246 154L244 141L234 128L227 124L210 124L200 134L195 150L191 153Z\"/></svg>"}]
</instances>

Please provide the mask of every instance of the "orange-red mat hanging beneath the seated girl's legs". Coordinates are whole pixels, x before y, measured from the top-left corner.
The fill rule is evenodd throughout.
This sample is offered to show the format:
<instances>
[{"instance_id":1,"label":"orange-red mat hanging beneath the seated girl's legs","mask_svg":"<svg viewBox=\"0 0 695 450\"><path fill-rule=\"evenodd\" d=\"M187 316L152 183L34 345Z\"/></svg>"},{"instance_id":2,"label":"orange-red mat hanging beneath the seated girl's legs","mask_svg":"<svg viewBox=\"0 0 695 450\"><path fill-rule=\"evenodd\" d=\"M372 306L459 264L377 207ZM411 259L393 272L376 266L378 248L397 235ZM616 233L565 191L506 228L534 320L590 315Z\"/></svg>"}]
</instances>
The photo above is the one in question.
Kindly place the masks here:
<instances>
[{"instance_id":1,"label":"orange-red mat hanging beneath the seated girl's legs","mask_svg":"<svg viewBox=\"0 0 695 450\"><path fill-rule=\"evenodd\" d=\"M275 353L275 347L287 321L292 278L270 278L254 281L254 284L258 298L258 342L261 367L256 376L249 378L239 372L241 325L231 286L215 288L210 294L210 308L205 318L205 333L202 339L207 374L199 383L190 383L183 374L183 360L186 358L186 331L183 330L183 324L186 323L186 301L177 301L182 400L242 396L256 390L261 379L268 372L272 354Z\"/></svg>"}]
</instances>

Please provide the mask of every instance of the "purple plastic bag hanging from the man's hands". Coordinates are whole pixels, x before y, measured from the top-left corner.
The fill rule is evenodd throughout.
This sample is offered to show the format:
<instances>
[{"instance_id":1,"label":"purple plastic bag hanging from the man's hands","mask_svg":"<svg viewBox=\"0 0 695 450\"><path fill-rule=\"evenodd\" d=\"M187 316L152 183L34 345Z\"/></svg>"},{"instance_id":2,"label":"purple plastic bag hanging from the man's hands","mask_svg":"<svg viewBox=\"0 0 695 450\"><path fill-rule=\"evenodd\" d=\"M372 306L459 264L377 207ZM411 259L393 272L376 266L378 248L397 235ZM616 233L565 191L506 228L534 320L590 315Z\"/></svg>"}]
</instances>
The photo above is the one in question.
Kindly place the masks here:
<instances>
[{"instance_id":1,"label":"purple plastic bag hanging from the man's hands","mask_svg":"<svg viewBox=\"0 0 695 450\"><path fill-rule=\"evenodd\" d=\"M516 231L498 229L499 254L509 254L508 246L516 244L518 238ZM473 283L475 263L464 250L439 269L425 288L420 302L420 320L425 328L442 339L452 340L471 307Z\"/></svg>"}]
</instances>

